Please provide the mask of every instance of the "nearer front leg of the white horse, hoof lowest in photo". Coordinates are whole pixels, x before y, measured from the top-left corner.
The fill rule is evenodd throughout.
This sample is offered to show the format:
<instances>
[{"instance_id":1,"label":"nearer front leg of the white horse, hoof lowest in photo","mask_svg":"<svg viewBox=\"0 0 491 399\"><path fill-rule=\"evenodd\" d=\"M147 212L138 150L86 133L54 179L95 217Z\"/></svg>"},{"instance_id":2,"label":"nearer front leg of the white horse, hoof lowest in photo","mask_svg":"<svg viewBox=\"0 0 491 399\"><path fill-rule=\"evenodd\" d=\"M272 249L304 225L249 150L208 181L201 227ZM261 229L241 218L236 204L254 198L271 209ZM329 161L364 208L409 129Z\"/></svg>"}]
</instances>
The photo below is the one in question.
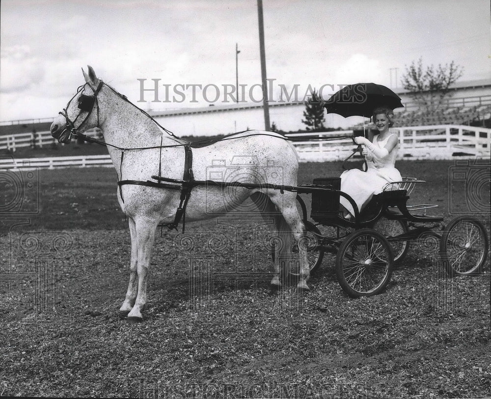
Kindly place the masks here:
<instances>
[{"instance_id":1,"label":"nearer front leg of the white horse, hoof lowest in photo","mask_svg":"<svg viewBox=\"0 0 491 399\"><path fill-rule=\"evenodd\" d=\"M128 314L127 321L136 323L143 320L141 312L145 309L147 303L147 274L150 267L150 256L152 246L155 241L155 231L157 224L149 219L136 220L136 271L138 274L138 292L136 294L135 304Z\"/></svg>"}]
</instances>

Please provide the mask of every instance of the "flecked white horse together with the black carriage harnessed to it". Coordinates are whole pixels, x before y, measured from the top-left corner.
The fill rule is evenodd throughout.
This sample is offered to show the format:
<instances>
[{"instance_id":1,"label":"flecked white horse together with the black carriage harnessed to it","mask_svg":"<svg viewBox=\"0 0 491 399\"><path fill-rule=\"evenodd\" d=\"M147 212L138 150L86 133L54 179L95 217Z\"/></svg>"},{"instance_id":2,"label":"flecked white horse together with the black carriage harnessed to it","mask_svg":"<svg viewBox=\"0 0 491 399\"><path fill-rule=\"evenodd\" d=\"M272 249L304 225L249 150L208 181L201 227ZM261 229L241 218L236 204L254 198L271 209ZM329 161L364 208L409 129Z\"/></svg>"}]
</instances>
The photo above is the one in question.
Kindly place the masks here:
<instances>
[{"instance_id":1,"label":"flecked white horse together with the black carriage harnessed to it","mask_svg":"<svg viewBox=\"0 0 491 399\"><path fill-rule=\"evenodd\" d=\"M297 154L285 137L248 131L193 146L99 80L92 68L83 75L85 83L55 119L51 133L62 143L75 136L108 148L118 175L118 202L128 217L131 236L130 281L120 308L120 314L129 322L142 320L158 225L176 228L180 221L184 226L186 218L217 217L247 198L261 203L262 212L268 216L273 214L276 230L284 238L273 252L274 287L281 285L280 258L291 254L292 249L299 260L298 269L290 270L298 275L297 289L308 290L310 271L320 266L325 252L331 252L337 254L339 283L353 296L382 292L394 260L406 254L411 239L424 235L441 237L440 255L450 274L477 272L486 260L488 238L478 220L455 219L440 235L433 229L443 227L443 218L414 213L424 211L428 205L407 205L410 190L420 183L418 180L389 184L359 213L353 199L340 191L339 178L297 184ZM83 134L94 127L102 130L104 142ZM240 180L208 178L206 170L210 165L217 161L230 165L234 157L244 158L245 166L238 173ZM225 187L234 187L227 199L223 195ZM314 222L308 220L305 203L299 196L302 193L312 195L310 216ZM340 216L340 196L353 205L353 220ZM336 233L322 235L320 225L330 226ZM392 246L396 248L395 255Z\"/></svg>"}]
</instances>

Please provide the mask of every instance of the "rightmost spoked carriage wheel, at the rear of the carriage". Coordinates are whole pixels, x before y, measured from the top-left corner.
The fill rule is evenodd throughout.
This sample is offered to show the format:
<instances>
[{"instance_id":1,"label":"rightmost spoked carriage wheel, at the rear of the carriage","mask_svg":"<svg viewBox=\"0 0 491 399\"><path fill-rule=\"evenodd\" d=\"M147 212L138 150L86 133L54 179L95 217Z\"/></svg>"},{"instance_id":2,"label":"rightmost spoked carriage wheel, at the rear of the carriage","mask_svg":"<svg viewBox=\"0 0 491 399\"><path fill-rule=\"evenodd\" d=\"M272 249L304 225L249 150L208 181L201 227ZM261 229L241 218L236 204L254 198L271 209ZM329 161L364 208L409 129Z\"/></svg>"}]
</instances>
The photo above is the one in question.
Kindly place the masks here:
<instances>
[{"instance_id":1,"label":"rightmost spoked carriage wheel, at the rear of the carriage","mask_svg":"<svg viewBox=\"0 0 491 399\"><path fill-rule=\"evenodd\" d=\"M488 257L488 250L486 228L471 216L453 219L440 241L441 260L452 277L480 273Z\"/></svg>"}]
</instances>

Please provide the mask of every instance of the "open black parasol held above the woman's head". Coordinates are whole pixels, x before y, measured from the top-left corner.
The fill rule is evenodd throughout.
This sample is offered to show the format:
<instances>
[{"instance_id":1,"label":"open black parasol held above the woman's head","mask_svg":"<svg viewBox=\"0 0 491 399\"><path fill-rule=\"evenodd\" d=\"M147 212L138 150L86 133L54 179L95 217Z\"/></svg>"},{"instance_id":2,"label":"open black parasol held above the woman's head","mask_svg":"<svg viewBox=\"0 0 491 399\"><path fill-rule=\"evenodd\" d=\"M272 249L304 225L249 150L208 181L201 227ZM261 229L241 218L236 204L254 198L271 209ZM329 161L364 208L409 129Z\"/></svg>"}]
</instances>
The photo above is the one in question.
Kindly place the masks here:
<instances>
[{"instance_id":1,"label":"open black parasol held above the woman's head","mask_svg":"<svg viewBox=\"0 0 491 399\"><path fill-rule=\"evenodd\" d=\"M376 83L355 83L334 93L323 106L327 113L348 116L372 116L379 106L390 109L403 107L401 98L389 88Z\"/></svg>"}]
</instances>

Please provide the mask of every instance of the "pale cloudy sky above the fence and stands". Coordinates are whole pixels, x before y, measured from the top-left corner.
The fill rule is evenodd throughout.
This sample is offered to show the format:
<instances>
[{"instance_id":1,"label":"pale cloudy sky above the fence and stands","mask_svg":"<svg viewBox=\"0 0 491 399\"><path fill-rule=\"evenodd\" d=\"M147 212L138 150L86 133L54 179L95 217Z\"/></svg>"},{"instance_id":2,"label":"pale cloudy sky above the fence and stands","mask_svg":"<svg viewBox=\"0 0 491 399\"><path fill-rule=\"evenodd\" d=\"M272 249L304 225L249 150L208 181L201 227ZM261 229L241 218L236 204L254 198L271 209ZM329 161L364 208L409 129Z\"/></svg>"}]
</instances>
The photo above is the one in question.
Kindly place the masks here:
<instances>
[{"instance_id":1,"label":"pale cloudy sky above the fence and stands","mask_svg":"<svg viewBox=\"0 0 491 399\"><path fill-rule=\"evenodd\" d=\"M236 44L241 101L260 101L256 0L1 0L0 12L0 121L54 117L87 65L144 109L232 103ZM343 84L400 87L419 58L491 77L488 0L263 0L263 14L276 101L309 85L325 99Z\"/></svg>"}]
</instances>

